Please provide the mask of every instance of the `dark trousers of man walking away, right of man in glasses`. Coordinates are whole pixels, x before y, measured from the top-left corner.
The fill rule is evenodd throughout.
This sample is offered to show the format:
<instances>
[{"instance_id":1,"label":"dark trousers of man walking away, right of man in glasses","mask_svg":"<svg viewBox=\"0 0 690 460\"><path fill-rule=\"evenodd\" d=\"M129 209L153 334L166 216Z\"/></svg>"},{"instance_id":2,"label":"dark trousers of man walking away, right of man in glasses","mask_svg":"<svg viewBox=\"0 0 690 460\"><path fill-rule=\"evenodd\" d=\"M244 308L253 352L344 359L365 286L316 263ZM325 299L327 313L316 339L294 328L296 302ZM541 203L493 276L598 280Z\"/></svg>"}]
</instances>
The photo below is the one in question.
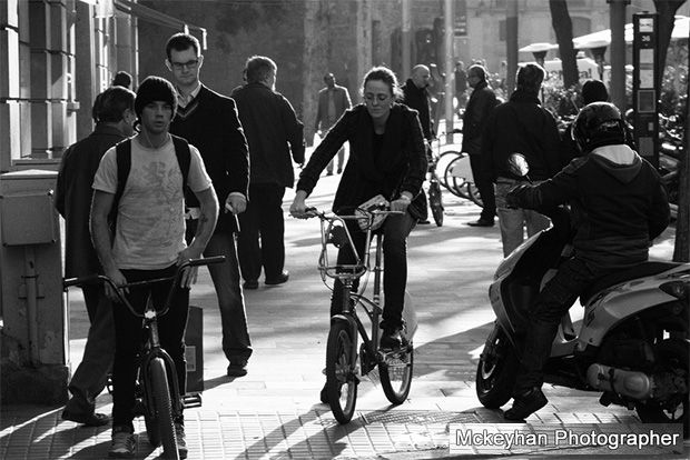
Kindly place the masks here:
<instances>
[{"instance_id":1,"label":"dark trousers of man walking away, right of man in glasses","mask_svg":"<svg viewBox=\"0 0 690 460\"><path fill-rule=\"evenodd\" d=\"M262 274L277 279L285 267L285 220L283 197L285 187L275 183L249 186L247 210L239 214L237 254L241 277L256 281ZM260 238L260 244L259 244Z\"/></svg>"}]
</instances>

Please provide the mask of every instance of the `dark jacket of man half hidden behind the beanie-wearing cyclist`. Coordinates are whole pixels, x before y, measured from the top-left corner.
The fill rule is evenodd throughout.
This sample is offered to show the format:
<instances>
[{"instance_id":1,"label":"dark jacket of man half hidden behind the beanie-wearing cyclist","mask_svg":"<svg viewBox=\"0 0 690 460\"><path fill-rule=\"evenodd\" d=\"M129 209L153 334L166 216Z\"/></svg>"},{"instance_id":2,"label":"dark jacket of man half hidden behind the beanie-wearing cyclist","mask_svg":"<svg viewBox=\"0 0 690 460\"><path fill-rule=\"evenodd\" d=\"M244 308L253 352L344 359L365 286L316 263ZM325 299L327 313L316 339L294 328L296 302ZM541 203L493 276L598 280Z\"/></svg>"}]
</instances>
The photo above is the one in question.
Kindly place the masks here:
<instances>
[{"instance_id":1,"label":"dark jacket of man half hidden behind the beanie-wearing cyclist","mask_svg":"<svg viewBox=\"0 0 690 460\"><path fill-rule=\"evenodd\" d=\"M93 176L112 146L126 139L119 129L98 123L93 132L70 146L62 156L56 192L56 208L65 218L65 277L101 272L91 243L89 216Z\"/></svg>"}]
</instances>

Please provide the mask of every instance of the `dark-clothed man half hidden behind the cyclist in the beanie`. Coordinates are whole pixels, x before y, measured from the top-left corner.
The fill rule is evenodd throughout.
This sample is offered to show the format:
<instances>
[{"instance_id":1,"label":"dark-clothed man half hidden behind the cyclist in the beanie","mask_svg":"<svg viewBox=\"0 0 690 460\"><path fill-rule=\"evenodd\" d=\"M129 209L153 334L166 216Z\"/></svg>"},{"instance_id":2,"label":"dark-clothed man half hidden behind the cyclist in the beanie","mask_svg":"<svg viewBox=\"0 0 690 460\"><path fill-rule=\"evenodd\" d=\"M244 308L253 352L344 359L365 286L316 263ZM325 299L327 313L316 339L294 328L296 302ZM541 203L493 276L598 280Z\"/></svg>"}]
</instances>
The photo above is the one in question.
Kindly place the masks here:
<instances>
[{"instance_id":1,"label":"dark-clothed man half hidden behind the cyclist in the beanie","mask_svg":"<svg viewBox=\"0 0 690 460\"><path fill-rule=\"evenodd\" d=\"M106 151L134 133L135 93L122 87L108 88L96 98L93 117L96 129L65 151L58 172L56 208L65 218L65 278L103 272L89 233L91 183ZM102 284L82 286L81 290L91 326L81 363L68 386L72 397L62 419L100 427L110 421L95 409L112 364L112 307Z\"/></svg>"}]
</instances>

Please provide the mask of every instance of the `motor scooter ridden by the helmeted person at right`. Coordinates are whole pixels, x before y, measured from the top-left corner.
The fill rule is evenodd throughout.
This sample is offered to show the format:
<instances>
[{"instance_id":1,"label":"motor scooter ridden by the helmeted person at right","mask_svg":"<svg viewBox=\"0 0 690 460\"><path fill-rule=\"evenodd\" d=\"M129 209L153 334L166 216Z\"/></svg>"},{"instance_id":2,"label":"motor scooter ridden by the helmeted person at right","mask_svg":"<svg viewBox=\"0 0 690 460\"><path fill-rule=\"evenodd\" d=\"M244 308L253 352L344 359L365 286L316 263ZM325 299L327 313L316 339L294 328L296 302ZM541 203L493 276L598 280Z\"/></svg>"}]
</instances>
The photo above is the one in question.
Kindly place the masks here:
<instances>
[{"instance_id":1,"label":"motor scooter ridden by the helmeted person at right","mask_svg":"<svg viewBox=\"0 0 690 460\"><path fill-rule=\"evenodd\" d=\"M566 210L548 217L553 226L504 259L489 288L496 320L476 370L486 408L512 398L530 306L572 252ZM601 392L603 406L634 409L644 423L682 423L688 438L690 263L649 261L615 272L590 286L580 303L580 324L570 313L561 320L544 381Z\"/></svg>"}]
</instances>

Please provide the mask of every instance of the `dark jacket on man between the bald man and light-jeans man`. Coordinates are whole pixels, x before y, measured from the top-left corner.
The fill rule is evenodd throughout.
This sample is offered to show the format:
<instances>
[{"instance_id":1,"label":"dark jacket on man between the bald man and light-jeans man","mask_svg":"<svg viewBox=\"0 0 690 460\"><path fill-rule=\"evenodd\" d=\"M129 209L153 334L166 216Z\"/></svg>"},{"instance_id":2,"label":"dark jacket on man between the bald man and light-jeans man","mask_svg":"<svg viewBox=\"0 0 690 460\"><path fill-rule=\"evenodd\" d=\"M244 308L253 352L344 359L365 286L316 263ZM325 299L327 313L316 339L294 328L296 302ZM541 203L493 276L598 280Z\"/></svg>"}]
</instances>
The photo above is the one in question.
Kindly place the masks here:
<instances>
[{"instance_id":1,"label":"dark jacket on man between the bald man and light-jeans man","mask_svg":"<svg viewBox=\"0 0 690 460\"><path fill-rule=\"evenodd\" d=\"M462 126L462 151L470 154L482 153L482 134L489 114L499 104L486 80L476 84L467 101Z\"/></svg>"}]
</instances>

